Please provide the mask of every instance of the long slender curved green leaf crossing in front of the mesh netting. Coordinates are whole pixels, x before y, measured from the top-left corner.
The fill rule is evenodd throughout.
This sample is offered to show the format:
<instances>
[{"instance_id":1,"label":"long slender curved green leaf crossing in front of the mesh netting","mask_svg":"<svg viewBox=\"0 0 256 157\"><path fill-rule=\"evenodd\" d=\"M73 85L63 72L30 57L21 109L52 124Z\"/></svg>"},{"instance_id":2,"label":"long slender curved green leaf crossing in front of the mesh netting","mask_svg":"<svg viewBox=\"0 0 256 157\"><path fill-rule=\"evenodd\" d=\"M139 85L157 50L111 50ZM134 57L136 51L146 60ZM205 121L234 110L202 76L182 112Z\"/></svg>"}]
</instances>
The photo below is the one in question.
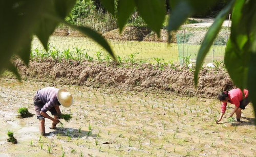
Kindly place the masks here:
<instances>
[{"instance_id":1,"label":"long slender curved green leaf crossing in front of the mesh netting","mask_svg":"<svg viewBox=\"0 0 256 157\"><path fill-rule=\"evenodd\" d=\"M226 19L227 15L230 12L230 10L232 9L234 2L235 2L235 0L230 1L229 4L219 13L219 15L217 16L214 23L211 25L210 29L208 30L208 32L206 33L206 35L204 37L204 40L202 42L202 45L199 49L199 53L197 56L196 71L194 73L194 81L195 81L196 86L198 84L198 73L201 69L204 58L207 55L215 38L217 37L217 35L222 27L222 23L224 22L224 20Z\"/></svg>"}]
</instances>

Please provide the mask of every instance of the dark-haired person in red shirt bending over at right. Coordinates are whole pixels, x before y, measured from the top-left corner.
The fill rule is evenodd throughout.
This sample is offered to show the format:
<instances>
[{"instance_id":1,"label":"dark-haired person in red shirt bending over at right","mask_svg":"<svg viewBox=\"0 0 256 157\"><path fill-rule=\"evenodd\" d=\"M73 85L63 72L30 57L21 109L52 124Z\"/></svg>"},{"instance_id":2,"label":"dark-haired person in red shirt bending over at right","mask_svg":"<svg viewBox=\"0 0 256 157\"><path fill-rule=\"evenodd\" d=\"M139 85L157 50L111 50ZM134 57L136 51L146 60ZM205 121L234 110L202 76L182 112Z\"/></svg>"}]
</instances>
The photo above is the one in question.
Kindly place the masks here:
<instances>
[{"instance_id":1,"label":"dark-haired person in red shirt bending over at right","mask_svg":"<svg viewBox=\"0 0 256 157\"><path fill-rule=\"evenodd\" d=\"M221 115L220 118L216 121L216 123L220 122L224 113L226 112L227 102L234 104L236 106L234 110L231 112L229 117L232 117L234 113L237 115L237 121L240 121L242 109L244 110L247 104L250 102L248 98L248 90L244 89L244 94L241 89L236 88L230 91L224 91L219 95L219 100L222 102L221 106Z\"/></svg>"}]
</instances>

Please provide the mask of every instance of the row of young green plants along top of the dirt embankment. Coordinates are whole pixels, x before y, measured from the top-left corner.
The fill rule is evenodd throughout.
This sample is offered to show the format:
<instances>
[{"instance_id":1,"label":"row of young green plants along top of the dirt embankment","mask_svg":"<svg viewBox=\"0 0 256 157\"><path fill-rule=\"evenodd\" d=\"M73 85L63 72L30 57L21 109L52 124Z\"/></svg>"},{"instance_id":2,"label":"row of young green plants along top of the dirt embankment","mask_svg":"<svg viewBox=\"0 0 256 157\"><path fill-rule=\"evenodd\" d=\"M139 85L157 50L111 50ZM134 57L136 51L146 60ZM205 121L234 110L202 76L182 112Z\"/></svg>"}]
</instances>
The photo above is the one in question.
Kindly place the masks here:
<instances>
[{"instance_id":1,"label":"row of young green plants along top of the dirt embankment","mask_svg":"<svg viewBox=\"0 0 256 157\"><path fill-rule=\"evenodd\" d=\"M125 58L122 58L117 55L116 58L120 66L122 66L123 64L130 63L132 65L139 64L137 67L140 67L141 64L148 62L148 59L137 59L137 55L139 55L139 52L129 54ZM96 53L93 56L90 56L89 50L86 49L80 49L78 47L75 47L73 48L73 50L68 48L63 51L60 51L58 48L50 46L50 44L48 44L48 51L41 50L38 48L32 50L30 57L31 59L35 59L36 61L38 61L38 59L44 60L47 58L52 58L59 62L62 59L65 59L67 61L75 60L79 62L87 60L89 62L97 61L98 63L106 62L108 65L110 65L110 63L114 61L108 53L103 53L102 51L96 51ZM196 64L191 62L190 57L191 55L187 57L182 57L184 61L182 66L192 71L195 70ZM153 59L156 62L154 64L155 68L159 68L160 70L164 70L166 67L177 69L177 67L180 66L175 65L174 60L165 62L163 58L153 57ZM202 64L201 68L203 68L204 64L205 63ZM224 61L222 60L212 60L212 64L214 65L214 67L212 68L214 68L215 70L219 70L220 68L224 67Z\"/></svg>"}]
</instances>

